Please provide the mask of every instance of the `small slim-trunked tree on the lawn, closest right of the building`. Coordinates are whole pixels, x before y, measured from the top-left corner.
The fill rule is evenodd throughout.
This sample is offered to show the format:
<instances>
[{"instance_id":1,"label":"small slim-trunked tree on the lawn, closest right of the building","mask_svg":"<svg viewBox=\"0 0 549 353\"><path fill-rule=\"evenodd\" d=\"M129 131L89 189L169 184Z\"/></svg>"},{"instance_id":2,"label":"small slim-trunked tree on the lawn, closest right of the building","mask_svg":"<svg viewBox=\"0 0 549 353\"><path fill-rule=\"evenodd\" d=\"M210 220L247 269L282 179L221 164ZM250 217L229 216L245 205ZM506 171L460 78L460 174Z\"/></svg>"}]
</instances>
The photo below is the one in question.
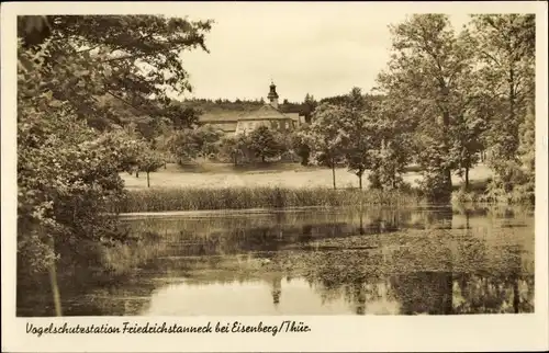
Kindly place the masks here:
<instances>
[{"instance_id":1,"label":"small slim-trunked tree on the lawn, closest right of the building","mask_svg":"<svg viewBox=\"0 0 549 353\"><path fill-rule=\"evenodd\" d=\"M337 105L321 104L314 112L309 135L315 160L332 169L332 181L336 189L336 164L343 157L344 130L339 122L348 112Z\"/></svg>"}]
</instances>

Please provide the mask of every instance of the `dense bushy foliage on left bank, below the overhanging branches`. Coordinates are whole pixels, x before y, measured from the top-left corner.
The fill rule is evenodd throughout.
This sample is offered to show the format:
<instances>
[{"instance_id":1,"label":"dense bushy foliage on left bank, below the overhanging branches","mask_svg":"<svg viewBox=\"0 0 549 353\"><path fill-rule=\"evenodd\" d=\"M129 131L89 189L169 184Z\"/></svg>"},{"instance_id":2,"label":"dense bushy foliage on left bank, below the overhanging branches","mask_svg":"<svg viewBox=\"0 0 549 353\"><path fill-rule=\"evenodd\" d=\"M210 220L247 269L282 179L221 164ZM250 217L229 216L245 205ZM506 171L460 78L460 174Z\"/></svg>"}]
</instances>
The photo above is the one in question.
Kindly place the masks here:
<instances>
[{"instance_id":1,"label":"dense bushy foliage on left bank, below the overhanging branches","mask_svg":"<svg viewBox=\"0 0 549 353\"><path fill-rule=\"evenodd\" d=\"M131 160L127 140L98 135L70 105L41 89L56 77L55 71L19 73L18 270L31 274L78 242L120 238L105 210L124 197L117 172Z\"/></svg>"}]
</instances>

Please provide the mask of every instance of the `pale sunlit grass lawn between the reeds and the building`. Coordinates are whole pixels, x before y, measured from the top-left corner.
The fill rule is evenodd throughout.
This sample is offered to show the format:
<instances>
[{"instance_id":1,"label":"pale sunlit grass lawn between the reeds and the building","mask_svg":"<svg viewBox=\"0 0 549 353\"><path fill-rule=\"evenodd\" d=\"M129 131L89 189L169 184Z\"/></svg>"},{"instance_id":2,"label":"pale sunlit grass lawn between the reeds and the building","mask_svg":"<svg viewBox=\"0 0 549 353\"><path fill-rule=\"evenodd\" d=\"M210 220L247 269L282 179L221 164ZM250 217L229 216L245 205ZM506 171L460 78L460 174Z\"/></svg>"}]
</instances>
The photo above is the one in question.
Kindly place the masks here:
<instances>
[{"instance_id":1,"label":"pale sunlit grass lawn between the reeds and the building","mask_svg":"<svg viewBox=\"0 0 549 353\"><path fill-rule=\"evenodd\" d=\"M492 175L492 171L480 164L470 171L471 183L484 181ZM147 189L145 173L122 173L122 179L128 190ZM415 185L421 175L416 171L405 174L404 180ZM362 179L363 187L368 187L367 173ZM453 175L455 185L461 184L462 179ZM345 168L336 169L336 185L338 189L358 187L358 178ZM168 164L158 172L150 173L150 187L169 189L203 189L203 187L332 187L332 170L318 167L303 167L299 163L272 163L262 167L235 168L229 163L200 163L189 167Z\"/></svg>"}]
</instances>

